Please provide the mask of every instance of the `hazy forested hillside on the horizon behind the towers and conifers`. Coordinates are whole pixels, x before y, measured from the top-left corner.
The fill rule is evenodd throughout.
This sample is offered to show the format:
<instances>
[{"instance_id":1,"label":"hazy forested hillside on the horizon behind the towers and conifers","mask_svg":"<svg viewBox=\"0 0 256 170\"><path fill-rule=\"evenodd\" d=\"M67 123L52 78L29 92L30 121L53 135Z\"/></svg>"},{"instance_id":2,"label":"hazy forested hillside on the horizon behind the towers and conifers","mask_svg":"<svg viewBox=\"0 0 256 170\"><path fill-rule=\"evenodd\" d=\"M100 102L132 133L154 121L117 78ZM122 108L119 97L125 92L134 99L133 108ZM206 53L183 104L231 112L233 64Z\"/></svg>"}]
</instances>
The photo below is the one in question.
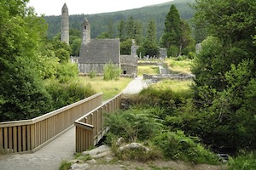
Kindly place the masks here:
<instances>
[{"instance_id":1,"label":"hazy forested hillside on the horizon behind the towers and conifers","mask_svg":"<svg viewBox=\"0 0 256 170\"><path fill-rule=\"evenodd\" d=\"M180 16L184 20L190 20L194 14L188 3L194 3L195 0L174 0L168 3L160 3L158 5L147 6L143 8L134 8L125 11L118 11L103 14L75 14L69 16L70 29L80 30L81 23L86 17L90 21L91 37L95 38L107 32L111 24L113 26L114 37L117 37L117 28L120 20L128 20L132 17L143 24L143 32L145 34L149 20L155 20L157 25L157 37L160 38L162 31L165 29L166 14L170 10L172 4L175 4ZM68 8L68 7L67 7ZM59 16L45 16L48 23L48 37L52 38L61 32L61 8Z\"/></svg>"}]
</instances>

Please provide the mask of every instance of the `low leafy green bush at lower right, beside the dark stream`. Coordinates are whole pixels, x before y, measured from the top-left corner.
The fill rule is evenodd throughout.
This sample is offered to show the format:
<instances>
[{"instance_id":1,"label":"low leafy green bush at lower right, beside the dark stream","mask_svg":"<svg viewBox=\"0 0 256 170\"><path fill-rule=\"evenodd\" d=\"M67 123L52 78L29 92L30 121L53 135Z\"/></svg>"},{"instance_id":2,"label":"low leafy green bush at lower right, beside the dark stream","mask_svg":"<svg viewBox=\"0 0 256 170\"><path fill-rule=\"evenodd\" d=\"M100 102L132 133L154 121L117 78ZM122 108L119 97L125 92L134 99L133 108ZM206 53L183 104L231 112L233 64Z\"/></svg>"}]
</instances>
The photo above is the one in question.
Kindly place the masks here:
<instances>
[{"instance_id":1,"label":"low leafy green bush at lower right, beside the dark stream","mask_svg":"<svg viewBox=\"0 0 256 170\"><path fill-rule=\"evenodd\" d=\"M218 164L218 156L198 143L198 138L187 137L183 131L164 132L154 138L154 144L164 156L194 163Z\"/></svg>"}]
</instances>

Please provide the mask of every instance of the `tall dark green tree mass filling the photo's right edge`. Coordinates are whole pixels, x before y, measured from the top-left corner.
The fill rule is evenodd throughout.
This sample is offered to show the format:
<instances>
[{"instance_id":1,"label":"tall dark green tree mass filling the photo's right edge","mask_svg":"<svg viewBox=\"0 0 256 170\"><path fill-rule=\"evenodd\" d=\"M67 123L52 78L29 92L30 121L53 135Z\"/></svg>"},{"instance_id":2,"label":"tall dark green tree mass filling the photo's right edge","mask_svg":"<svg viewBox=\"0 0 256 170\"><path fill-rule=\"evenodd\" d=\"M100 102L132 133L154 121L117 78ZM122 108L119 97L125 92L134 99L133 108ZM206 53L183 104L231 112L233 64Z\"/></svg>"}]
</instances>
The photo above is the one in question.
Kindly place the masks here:
<instances>
[{"instance_id":1,"label":"tall dark green tree mass filling the photo's right edge","mask_svg":"<svg viewBox=\"0 0 256 170\"><path fill-rule=\"evenodd\" d=\"M208 137L218 146L255 150L256 2L198 0L194 8L210 35L192 68L195 101L211 117Z\"/></svg>"}]
</instances>

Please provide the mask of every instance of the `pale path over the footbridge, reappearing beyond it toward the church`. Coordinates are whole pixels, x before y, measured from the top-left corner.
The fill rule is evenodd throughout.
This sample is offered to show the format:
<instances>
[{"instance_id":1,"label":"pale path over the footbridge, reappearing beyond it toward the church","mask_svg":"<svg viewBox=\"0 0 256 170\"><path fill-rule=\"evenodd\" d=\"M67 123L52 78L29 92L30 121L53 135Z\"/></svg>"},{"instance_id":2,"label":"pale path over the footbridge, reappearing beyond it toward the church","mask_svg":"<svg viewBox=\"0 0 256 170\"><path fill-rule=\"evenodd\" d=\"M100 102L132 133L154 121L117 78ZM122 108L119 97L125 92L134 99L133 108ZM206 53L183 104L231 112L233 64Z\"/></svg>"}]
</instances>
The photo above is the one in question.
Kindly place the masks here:
<instances>
[{"instance_id":1,"label":"pale path over the footbridge, reappearing beyond it toward the church","mask_svg":"<svg viewBox=\"0 0 256 170\"><path fill-rule=\"evenodd\" d=\"M137 94L148 85L142 77L132 80L124 94ZM75 152L75 128L32 154L0 155L1 170L56 170L61 161L72 160Z\"/></svg>"}]
</instances>

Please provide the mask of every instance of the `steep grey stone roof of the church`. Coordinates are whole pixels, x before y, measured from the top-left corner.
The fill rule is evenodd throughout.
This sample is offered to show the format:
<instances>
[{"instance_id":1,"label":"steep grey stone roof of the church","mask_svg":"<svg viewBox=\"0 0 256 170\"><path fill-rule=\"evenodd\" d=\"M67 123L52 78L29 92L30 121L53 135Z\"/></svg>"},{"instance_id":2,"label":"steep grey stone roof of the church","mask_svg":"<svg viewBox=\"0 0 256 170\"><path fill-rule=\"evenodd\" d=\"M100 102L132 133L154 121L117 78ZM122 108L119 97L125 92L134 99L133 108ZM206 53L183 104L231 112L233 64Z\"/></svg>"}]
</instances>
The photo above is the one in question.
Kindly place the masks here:
<instances>
[{"instance_id":1,"label":"steep grey stone roof of the church","mask_svg":"<svg viewBox=\"0 0 256 170\"><path fill-rule=\"evenodd\" d=\"M92 39L82 44L79 63L120 63L119 39Z\"/></svg>"}]
</instances>

